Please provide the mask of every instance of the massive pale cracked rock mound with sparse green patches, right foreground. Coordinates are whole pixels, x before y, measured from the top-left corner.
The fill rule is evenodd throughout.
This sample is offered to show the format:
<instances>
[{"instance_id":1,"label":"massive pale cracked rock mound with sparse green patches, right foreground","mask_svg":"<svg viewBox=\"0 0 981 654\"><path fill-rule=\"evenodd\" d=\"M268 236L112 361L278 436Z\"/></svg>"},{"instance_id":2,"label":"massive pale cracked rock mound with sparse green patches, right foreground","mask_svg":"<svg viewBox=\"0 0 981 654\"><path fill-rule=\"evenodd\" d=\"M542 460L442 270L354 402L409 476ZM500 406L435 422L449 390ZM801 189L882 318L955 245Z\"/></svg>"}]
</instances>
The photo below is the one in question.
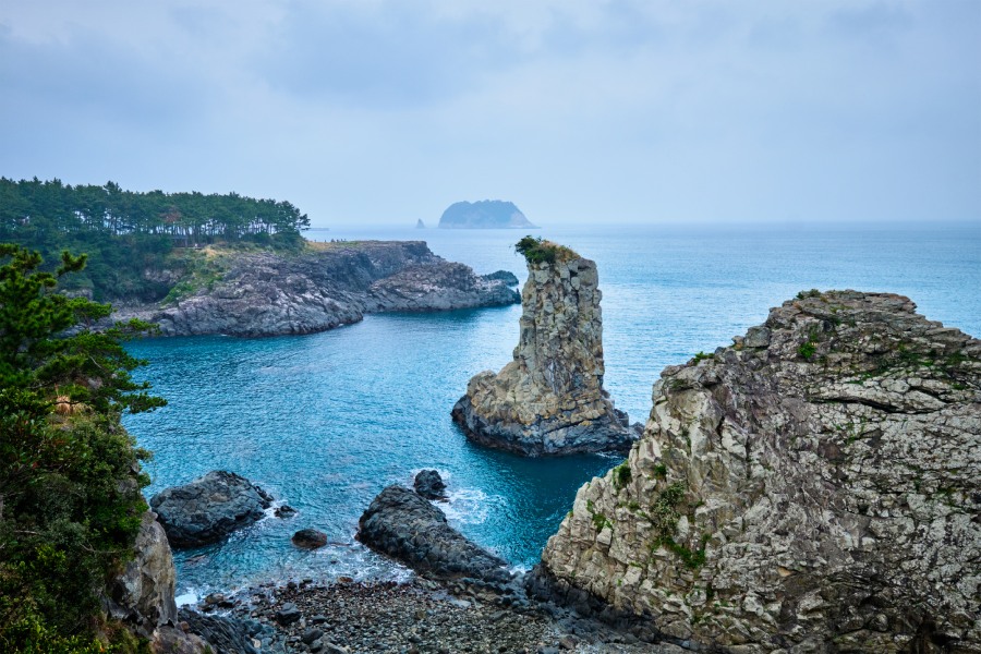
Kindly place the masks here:
<instances>
[{"instance_id":1,"label":"massive pale cracked rock mound with sparse green patches, right foreground","mask_svg":"<svg viewBox=\"0 0 981 654\"><path fill-rule=\"evenodd\" d=\"M702 651L981 652L981 341L812 291L653 400L540 592Z\"/></svg>"}]
</instances>

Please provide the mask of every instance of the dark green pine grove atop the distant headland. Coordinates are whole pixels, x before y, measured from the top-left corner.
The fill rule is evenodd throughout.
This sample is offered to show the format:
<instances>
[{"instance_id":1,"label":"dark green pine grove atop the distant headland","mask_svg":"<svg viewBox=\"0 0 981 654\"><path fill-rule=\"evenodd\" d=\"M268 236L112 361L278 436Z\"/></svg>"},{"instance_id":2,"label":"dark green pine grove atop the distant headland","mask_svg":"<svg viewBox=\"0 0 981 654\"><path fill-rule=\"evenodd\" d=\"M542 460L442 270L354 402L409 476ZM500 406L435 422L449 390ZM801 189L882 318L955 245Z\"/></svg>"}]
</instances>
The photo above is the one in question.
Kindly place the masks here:
<instances>
[{"instance_id":1,"label":"dark green pine grove atop the distant headland","mask_svg":"<svg viewBox=\"0 0 981 654\"><path fill-rule=\"evenodd\" d=\"M0 242L38 250L58 261L64 250L87 252L89 264L68 288L97 300L157 301L172 280L147 275L177 249L227 244L296 247L310 219L288 202L237 193L136 193L119 184L0 178Z\"/></svg>"}]
</instances>

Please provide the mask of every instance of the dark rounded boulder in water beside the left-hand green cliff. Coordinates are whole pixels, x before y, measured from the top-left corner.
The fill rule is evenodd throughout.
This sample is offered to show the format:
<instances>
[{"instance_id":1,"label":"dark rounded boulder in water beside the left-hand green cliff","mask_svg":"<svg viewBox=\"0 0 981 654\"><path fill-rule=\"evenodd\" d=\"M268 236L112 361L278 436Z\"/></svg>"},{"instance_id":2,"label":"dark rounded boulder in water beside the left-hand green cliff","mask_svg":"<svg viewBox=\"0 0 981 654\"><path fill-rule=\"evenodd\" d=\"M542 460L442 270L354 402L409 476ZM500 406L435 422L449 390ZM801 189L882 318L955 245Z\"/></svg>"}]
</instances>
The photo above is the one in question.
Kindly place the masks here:
<instances>
[{"instance_id":1,"label":"dark rounded boulder in water beside the left-hand green cliff","mask_svg":"<svg viewBox=\"0 0 981 654\"><path fill-rule=\"evenodd\" d=\"M272 498L233 472L215 470L150 498L173 547L198 547L220 541L262 518Z\"/></svg>"}]
</instances>

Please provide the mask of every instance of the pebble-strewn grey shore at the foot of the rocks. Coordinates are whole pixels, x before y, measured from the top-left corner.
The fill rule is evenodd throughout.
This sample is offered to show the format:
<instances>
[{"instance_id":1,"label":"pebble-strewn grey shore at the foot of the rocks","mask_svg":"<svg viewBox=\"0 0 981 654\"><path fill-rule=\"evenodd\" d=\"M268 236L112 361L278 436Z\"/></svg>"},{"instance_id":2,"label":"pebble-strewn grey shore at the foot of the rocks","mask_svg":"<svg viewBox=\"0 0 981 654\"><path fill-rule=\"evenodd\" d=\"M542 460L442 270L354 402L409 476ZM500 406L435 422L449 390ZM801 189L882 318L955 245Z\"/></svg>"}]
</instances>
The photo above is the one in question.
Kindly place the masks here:
<instances>
[{"instance_id":1,"label":"pebble-strewn grey shore at the foot of the rocks","mask_svg":"<svg viewBox=\"0 0 981 654\"><path fill-rule=\"evenodd\" d=\"M251 589L231 601L211 598L198 610L223 614L245 625L238 631L255 634L245 637L255 652L685 653L678 645L642 642L629 631L555 605L424 579L359 583L340 578L326 585L290 582ZM283 615L290 617L283 620ZM241 651L253 654L247 647Z\"/></svg>"}]
</instances>

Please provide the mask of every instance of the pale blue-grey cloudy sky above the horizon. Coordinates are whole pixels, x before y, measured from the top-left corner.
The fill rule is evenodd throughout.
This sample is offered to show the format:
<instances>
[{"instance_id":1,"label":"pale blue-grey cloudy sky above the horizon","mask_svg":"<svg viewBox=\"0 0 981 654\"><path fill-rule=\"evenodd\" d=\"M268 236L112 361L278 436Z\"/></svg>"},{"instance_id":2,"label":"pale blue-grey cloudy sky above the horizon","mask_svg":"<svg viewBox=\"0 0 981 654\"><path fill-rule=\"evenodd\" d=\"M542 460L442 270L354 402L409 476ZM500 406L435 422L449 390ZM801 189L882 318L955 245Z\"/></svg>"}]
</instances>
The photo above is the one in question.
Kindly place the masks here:
<instances>
[{"instance_id":1,"label":"pale blue-grey cloudy sky above the horizon","mask_svg":"<svg viewBox=\"0 0 981 654\"><path fill-rule=\"evenodd\" d=\"M315 227L981 222L981 0L0 0L0 175Z\"/></svg>"}]
</instances>

